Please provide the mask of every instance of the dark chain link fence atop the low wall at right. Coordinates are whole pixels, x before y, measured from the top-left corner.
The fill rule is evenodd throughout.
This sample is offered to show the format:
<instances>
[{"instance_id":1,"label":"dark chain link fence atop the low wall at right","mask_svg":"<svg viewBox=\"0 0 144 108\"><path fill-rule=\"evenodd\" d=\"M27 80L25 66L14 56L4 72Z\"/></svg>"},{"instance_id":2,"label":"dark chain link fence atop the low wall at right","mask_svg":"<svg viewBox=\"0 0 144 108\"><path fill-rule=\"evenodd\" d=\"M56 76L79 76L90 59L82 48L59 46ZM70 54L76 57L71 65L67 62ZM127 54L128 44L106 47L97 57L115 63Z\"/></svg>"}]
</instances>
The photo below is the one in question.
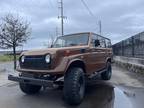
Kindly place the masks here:
<instances>
[{"instance_id":1,"label":"dark chain link fence atop the low wall at right","mask_svg":"<svg viewBox=\"0 0 144 108\"><path fill-rule=\"evenodd\" d=\"M116 56L144 58L144 32L113 45Z\"/></svg>"}]
</instances>

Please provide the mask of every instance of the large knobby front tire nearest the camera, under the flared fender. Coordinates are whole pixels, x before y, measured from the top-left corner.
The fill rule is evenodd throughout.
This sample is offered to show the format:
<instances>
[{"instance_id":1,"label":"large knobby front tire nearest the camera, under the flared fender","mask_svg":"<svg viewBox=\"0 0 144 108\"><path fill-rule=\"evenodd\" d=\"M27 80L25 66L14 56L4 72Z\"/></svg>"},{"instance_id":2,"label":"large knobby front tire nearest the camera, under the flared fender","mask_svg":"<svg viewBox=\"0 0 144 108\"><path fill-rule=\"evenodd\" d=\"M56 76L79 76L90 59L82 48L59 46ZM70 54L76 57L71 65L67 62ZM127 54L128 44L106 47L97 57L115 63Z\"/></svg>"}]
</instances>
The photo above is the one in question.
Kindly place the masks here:
<instances>
[{"instance_id":1,"label":"large knobby front tire nearest the camera, under the flared fender","mask_svg":"<svg viewBox=\"0 0 144 108\"><path fill-rule=\"evenodd\" d=\"M64 77L64 100L70 105L78 105L85 94L85 76L83 69L73 67Z\"/></svg>"}]
</instances>

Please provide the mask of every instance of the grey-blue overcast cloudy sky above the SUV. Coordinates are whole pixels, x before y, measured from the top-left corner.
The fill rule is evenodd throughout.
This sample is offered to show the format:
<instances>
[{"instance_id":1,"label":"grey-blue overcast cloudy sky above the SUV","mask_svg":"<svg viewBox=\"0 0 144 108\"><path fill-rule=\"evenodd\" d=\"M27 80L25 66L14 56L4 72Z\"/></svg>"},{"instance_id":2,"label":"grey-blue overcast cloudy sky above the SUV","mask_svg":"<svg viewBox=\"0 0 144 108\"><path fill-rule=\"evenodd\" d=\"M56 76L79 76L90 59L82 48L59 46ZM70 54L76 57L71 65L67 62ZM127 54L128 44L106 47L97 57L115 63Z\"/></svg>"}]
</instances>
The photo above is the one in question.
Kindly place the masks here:
<instances>
[{"instance_id":1,"label":"grey-blue overcast cloudy sky above the SUV","mask_svg":"<svg viewBox=\"0 0 144 108\"><path fill-rule=\"evenodd\" d=\"M102 35L112 43L144 31L144 0L85 0L94 14L91 16L81 0L63 0L65 34L74 32L98 33L102 21ZM59 28L58 0L0 0L0 16L15 13L31 23L32 39L24 49L43 48L49 35Z\"/></svg>"}]
</instances>

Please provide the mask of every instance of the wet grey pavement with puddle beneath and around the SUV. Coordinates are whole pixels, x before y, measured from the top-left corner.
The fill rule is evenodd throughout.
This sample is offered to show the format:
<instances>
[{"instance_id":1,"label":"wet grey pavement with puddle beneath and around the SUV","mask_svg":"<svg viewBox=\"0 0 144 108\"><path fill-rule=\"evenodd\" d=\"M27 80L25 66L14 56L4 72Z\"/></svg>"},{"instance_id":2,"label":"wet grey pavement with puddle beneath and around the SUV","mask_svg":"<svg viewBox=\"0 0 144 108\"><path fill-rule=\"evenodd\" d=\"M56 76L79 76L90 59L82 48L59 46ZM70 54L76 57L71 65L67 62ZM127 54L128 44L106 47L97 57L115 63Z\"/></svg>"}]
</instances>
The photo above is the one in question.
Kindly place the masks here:
<instances>
[{"instance_id":1,"label":"wet grey pavement with puddle beneath and around the SUV","mask_svg":"<svg viewBox=\"0 0 144 108\"><path fill-rule=\"evenodd\" d=\"M74 108L144 108L144 78L113 66L110 81L97 80L87 87L83 103ZM64 103L62 90L41 90L25 95L17 83L0 87L1 108L73 108Z\"/></svg>"}]
</instances>

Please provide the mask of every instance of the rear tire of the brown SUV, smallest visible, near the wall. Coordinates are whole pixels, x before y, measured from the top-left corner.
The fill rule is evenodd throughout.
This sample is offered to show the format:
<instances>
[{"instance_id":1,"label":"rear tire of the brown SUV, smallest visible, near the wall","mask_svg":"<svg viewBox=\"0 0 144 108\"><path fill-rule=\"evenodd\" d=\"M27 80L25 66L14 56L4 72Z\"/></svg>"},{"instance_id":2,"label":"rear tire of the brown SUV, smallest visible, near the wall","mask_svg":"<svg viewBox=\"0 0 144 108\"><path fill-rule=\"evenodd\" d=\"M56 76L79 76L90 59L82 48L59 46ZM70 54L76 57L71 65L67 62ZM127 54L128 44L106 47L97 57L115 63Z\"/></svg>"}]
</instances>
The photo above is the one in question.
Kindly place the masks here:
<instances>
[{"instance_id":1,"label":"rear tire of the brown SUV, smallest visible, near the wall","mask_svg":"<svg viewBox=\"0 0 144 108\"><path fill-rule=\"evenodd\" d=\"M112 76L111 63L110 63L110 62L107 62L107 64L106 64L106 71L104 71L104 72L101 74L101 78L102 78L103 80L110 80L110 79L111 79L111 76Z\"/></svg>"}]
</instances>

